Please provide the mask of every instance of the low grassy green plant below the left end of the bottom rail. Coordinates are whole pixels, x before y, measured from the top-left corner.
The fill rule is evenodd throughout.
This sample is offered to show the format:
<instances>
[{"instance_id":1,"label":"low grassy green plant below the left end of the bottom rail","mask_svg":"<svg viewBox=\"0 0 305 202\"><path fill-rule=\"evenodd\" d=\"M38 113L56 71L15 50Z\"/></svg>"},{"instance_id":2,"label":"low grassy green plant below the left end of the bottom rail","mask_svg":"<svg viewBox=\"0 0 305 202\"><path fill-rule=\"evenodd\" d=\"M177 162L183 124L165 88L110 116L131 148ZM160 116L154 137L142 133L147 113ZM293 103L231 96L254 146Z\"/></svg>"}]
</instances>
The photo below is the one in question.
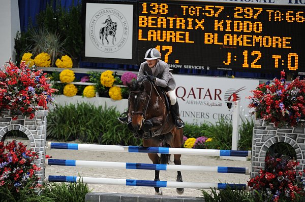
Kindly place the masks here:
<instances>
[{"instance_id":1,"label":"low grassy green plant below the left end of the bottom rail","mask_svg":"<svg viewBox=\"0 0 305 202\"><path fill-rule=\"evenodd\" d=\"M43 195L60 202L83 202L90 192L88 185L80 180L76 183L45 183Z\"/></svg>"}]
</instances>

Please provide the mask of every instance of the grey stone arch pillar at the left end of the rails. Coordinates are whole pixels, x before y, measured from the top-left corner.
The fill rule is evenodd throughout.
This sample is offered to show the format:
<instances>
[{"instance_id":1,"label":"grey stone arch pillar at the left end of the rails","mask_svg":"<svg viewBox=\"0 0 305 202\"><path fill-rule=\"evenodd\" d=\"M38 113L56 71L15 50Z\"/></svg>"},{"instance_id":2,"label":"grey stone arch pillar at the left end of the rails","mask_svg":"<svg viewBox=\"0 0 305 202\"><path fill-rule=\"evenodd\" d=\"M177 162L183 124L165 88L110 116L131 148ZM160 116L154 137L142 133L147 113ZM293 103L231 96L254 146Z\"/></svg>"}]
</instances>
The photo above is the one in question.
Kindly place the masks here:
<instances>
[{"instance_id":1,"label":"grey stone arch pillar at the left end of the rails","mask_svg":"<svg viewBox=\"0 0 305 202\"><path fill-rule=\"evenodd\" d=\"M36 172L37 177L40 177L39 184L42 184L44 180L47 115L48 110L38 110L33 119L18 116L16 120L13 120L10 111L2 111L2 116L0 116L0 140L2 142L5 141L8 132L19 130L28 137L29 146L33 148L33 151L38 153L38 159L34 163L41 168L41 171Z\"/></svg>"}]
</instances>

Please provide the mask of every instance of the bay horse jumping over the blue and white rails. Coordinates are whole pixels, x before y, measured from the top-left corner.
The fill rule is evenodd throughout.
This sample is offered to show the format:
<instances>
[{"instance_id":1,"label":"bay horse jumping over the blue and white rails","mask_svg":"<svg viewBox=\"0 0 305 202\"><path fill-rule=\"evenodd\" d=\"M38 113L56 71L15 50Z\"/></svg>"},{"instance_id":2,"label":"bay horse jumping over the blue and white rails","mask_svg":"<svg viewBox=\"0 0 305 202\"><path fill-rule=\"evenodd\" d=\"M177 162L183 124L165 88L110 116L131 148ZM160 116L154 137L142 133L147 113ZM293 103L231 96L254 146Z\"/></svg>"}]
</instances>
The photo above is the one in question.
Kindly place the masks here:
<instances>
[{"instance_id":1,"label":"bay horse jumping over the blue and white rails","mask_svg":"<svg viewBox=\"0 0 305 202\"><path fill-rule=\"evenodd\" d=\"M181 148L183 130L176 129L174 120L169 114L169 99L161 88L149 82L146 76L132 80L127 84L130 88L128 98L128 116L132 121L129 128L136 138L143 139L144 147L177 147ZM181 165L181 154L174 154L174 164ZM169 164L170 154L148 153L153 164ZM159 181L159 170L155 171L155 181ZM182 182L181 172L177 171L177 182ZM184 188L176 188L178 194L184 193ZM160 187L155 187L155 194L162 195Z\"/></svg>"}]
</instances>

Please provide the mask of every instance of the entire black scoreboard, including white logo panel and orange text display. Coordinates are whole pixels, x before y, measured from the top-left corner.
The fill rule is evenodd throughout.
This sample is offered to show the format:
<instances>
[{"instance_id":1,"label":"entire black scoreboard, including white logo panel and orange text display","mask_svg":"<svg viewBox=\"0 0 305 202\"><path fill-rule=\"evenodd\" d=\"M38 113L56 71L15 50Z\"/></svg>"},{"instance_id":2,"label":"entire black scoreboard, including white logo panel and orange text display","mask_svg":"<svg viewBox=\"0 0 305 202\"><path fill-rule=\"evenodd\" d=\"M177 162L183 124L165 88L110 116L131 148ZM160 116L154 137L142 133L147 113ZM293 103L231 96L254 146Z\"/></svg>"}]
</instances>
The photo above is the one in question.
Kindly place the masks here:
<instances>
[{"instance_id":1,"label":"entire black scoreboard, including white logo panel and orange text display","mask_svg":"<svg viewBox=\"0 0 305 202\"><path fill-rule=\"evenodd\" d=\"M84 0L85 61L305 74L305 0ZM255 4L254 4L255 3Z\"/></svg>"}]
</instances>

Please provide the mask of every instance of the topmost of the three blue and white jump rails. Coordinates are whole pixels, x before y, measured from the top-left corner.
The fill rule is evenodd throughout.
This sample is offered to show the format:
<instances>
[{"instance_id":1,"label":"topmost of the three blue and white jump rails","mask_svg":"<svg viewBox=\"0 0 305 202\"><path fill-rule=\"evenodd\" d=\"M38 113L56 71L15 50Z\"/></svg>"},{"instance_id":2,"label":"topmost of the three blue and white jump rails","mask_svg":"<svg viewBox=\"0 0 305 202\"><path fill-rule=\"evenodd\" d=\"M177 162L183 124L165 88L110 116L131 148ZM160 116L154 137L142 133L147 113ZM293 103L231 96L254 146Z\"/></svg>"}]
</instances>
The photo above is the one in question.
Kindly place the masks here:
<instances>
[{"instance_id":1,"label":"topmost of the three blue and white jump rails","mask_svg":"<svg viewBox=\"0 0 305 202\"><path fill-rule=\"evenodd\" d=\"M86 150L86 151L163 153L163 154L186 154L186 155L206 155L206 156L239 156L239 157L251 156L251 151L219 150L219 149L140 147L140 146L97 145L97 144L54 143L54 142L49 142L48 147L50 149L71 149L71 150Z\"/></svg>"}]
</instances>

